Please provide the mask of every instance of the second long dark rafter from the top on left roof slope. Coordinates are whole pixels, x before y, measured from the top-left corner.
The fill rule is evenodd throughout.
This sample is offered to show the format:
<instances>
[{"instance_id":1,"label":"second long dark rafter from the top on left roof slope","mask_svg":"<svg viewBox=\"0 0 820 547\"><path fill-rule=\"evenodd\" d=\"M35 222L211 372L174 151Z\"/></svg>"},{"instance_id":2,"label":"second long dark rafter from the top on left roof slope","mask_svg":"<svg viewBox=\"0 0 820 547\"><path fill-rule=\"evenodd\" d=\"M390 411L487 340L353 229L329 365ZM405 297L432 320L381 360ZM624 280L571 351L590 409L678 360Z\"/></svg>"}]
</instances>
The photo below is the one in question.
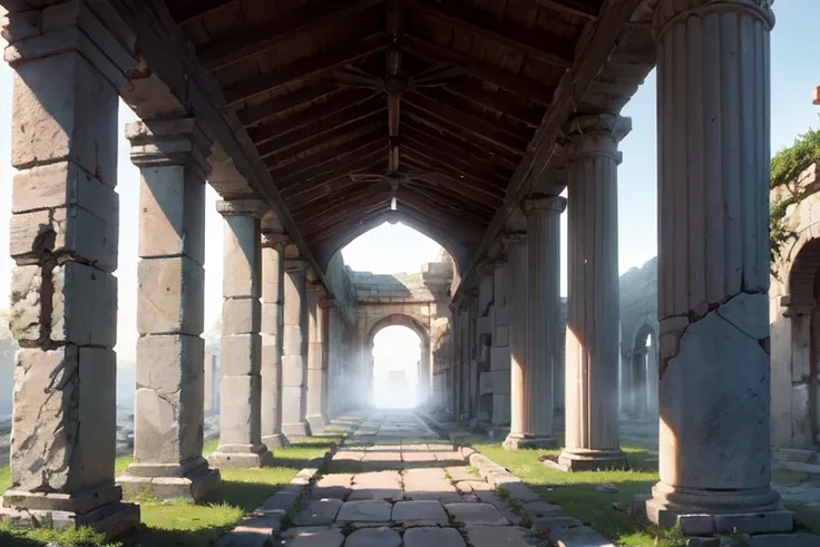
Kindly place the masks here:
<instances>
[{"instance_id":1,"label":"second long dark rafter from the top on left roof slope","mask_svg":"<svg viewBox=\"0 0 820 547\"><path fill-rule=\"evenodd\" d=\"M374 40L373 36L378 36L378 40ZM225 102L228 106L236 106L251 97L275 91L291 81L325 72L387 49L383 36L373 36L359 42L330 48L284 67L277 67L272 72L261 75L257 78L243 80L243 82L225 90Z\"/></svg>"}]
</instances>

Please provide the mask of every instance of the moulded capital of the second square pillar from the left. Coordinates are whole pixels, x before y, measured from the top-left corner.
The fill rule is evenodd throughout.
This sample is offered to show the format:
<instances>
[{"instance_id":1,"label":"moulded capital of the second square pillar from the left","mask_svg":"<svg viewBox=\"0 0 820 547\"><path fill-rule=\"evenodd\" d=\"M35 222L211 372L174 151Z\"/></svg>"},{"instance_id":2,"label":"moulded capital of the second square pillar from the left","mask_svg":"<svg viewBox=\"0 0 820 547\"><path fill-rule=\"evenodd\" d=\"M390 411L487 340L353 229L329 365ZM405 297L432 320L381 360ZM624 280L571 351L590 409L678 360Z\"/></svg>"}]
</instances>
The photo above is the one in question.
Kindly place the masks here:
<instances>
[{"instance_id":1,"label":"moulded capital of the second square pillar from the left","mask_svg":"<svg viewBox=\"0 0 820 547\"><path fill-rule=\"evenodd\" d=\"M137 167L193 165L205 176L211 172L207 158L211 139L194 118L130 121L125 138L131 144L131 163Z\"/></svg>"}]
</instances>

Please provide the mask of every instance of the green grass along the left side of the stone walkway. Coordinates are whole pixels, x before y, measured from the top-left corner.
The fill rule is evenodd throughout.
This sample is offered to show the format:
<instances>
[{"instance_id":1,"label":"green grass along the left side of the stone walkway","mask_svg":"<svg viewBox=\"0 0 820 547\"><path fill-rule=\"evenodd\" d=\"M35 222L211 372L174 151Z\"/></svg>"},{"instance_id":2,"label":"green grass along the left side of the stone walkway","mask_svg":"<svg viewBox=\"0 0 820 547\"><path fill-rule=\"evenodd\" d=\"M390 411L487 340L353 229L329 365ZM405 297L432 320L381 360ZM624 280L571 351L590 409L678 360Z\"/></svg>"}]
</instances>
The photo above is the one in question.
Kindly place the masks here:
<instances>
[{"instance_id":1,"label":"green grass along the left side of the stone walkway","mask_svg":"<svg viewBox=\"0 0 820 547\"><path fill-rule=\"evenodd\" d=\"M170 501L160 504L148 497L137 501L141 508L141 526L128 537L120 538L123 546L150 547L205 547L232 529L242 516L258 507L269 496L287 485L308 462L321 457L340 436L296 439L286 448L275 451L276 467L263 469L224 469L222 485L199 505ZM216 448L217 441L205 443L204 455ZM117 458L116 475L119 476L130 457ZM8 468L0 468L0 491L10 485ZM61 547L104 546L100 535L89 530L56 533L51 530L11 530L0 524L0 545L4 547L35 547L50 540Z\"/></svg>"}]
</instances>

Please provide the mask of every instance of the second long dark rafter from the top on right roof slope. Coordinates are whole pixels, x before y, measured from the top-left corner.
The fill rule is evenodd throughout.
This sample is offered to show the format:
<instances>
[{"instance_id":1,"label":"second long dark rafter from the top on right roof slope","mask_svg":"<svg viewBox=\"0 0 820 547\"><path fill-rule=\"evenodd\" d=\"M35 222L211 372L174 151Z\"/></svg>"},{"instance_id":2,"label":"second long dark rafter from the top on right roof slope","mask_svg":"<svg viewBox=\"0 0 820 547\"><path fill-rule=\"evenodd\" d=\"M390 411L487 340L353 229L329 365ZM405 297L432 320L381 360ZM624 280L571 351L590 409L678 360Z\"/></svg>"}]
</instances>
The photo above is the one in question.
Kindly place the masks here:
<instances>
[{"instance_id":1,"label":"second long dark rafter from the top on right roof slope","mask_svg":"<svg viewBox=\"0 0 820 547\"><path fill-rule=\"evenodd\" d=\"M402 49L428 62L447 62L460 67L476 78L489 81L535 102L549 105L553 100L553 90L544 84L514 75L446 46L439 46L416 36L406 36Z\"/></svg>"}]
</instances>

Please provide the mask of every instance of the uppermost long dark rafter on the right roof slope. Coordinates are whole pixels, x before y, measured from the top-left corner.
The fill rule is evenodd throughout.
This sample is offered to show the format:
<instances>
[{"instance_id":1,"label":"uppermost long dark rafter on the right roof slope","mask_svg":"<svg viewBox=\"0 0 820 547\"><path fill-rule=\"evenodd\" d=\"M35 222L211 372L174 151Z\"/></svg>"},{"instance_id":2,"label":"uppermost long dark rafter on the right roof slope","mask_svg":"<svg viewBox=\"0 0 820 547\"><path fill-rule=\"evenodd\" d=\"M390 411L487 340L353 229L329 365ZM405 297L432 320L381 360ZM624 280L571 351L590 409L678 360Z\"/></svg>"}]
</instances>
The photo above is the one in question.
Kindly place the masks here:
<instances>
[{"instance_id":1,"label":"uppermost long dark rafter on the right roof slope","mask_svg":"<svg viewBox=\"0 0 820 547\"><path fill-rule=\"evenodd\" d=\"M466 3L433 2L417 0L424 13L459 27L469 32L485 36L505 47L526 53L547 65L569 68L575 58L575 47L563 37L548 37L543 31L536 31L516 25L512 21L500 19L481 9Z\"/></svg>"}]
</instances>

